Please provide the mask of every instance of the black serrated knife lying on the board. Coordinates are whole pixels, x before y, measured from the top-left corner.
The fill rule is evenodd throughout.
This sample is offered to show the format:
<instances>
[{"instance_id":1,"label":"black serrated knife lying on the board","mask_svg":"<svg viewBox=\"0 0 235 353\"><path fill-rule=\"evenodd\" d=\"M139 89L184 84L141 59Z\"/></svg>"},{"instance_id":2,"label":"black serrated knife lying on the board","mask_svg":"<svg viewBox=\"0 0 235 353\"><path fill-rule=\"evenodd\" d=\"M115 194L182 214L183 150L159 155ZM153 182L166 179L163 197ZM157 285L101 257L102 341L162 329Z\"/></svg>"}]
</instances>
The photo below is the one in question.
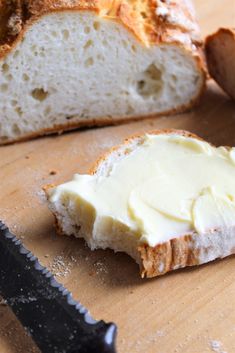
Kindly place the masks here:
<instances>
[{"instance_id":1,"label":"black serrated knife lying on the board","mask_svg":"<svg viewBox=\"0 0 235 353\"><path fill-rule=\"evenodd\" d=\"M94 320L1 221L0 295L42 353L116 352L116 325Z\"/></svg>"}]
</instances>

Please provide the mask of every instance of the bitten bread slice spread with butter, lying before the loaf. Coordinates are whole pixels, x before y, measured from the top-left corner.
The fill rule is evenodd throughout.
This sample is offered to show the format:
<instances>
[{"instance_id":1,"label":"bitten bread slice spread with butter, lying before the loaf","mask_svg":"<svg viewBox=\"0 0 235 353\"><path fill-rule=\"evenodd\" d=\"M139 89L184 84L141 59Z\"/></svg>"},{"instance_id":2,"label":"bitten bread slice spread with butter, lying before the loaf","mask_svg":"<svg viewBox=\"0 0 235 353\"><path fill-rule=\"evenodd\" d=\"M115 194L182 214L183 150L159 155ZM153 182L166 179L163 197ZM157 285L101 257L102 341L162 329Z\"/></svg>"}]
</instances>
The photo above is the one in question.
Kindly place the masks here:
<instances>
[{"instance_id":1,"label":"bitten bread slice spread with butter, lying before the loaf","mask_svg":"<svg viewBox=\"0 0 235 353\"><path fill-rule=\"evenodd\" d=\"M234 180L234 148L168 130L129 138L46 194L60 233L124 251L154 277L235 252Z\"/></svg>"}]
</instances>

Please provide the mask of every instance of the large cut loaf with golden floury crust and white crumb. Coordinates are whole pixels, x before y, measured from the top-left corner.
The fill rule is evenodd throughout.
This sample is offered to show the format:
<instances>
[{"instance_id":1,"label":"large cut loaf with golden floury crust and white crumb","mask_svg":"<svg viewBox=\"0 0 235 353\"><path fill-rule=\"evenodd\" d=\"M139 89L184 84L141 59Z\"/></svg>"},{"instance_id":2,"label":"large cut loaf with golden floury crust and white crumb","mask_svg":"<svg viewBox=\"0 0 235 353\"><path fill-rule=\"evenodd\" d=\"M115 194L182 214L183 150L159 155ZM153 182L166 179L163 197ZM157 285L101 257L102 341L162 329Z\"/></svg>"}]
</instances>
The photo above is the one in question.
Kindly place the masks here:
<instances>
[{"instance_id":1,"label":"large cut loaf with golden floury crust and white crumb","mask_svg":"<svg viewBox=\"0 0 235 353\"><path fill-rule=\"evenodd\" d=\"M189 0L1 0L0 143L183 111L205 83Z\"/></svg>"}]
</instances>

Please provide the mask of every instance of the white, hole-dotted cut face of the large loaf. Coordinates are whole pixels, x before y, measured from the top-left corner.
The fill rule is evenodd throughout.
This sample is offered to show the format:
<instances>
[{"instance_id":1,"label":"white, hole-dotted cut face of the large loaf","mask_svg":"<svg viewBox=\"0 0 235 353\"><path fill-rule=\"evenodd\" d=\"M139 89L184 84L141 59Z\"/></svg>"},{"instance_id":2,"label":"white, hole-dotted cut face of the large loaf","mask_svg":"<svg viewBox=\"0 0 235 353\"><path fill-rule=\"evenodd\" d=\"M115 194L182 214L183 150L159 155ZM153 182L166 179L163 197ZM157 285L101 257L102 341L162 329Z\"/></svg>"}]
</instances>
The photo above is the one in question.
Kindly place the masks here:
<instances>
[{"instance_id":1,"label":"white, hole-dotted cut face of the large loaf","mask_svg":"<svg viewBox=\"0 0 235 353\"><path fill-rule=\"evenodd\" d=\"M0 143L181 110L203 84L182 44L148 47L91 11L48 13L0 59Z\"/></svg>"}]
</instances>

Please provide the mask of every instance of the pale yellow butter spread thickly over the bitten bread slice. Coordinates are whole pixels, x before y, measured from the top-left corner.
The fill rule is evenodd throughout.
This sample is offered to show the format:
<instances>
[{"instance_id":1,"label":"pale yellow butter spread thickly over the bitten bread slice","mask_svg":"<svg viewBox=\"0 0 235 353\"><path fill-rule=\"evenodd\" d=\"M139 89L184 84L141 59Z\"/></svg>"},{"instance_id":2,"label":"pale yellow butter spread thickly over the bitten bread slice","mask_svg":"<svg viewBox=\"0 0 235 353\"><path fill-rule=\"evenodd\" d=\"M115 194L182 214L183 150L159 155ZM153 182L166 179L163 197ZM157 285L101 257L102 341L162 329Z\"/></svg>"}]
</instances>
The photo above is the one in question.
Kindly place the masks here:
<instances>
[{"instance_id":1,"label":"pale yellow butter spread thickly over the bitten bread slice","mask_svg":"<svg viewBox=\"0 0 235 353\"><path fill-rule=\"evenodd\" d=\"M146 134L112 162L107 175L79 175L52 189L50 202L73 199L111 217L150 246L235 226L235 149L175 134ZM89 207L88 207L89 206Z\"/></svg>"}]
</instances>

